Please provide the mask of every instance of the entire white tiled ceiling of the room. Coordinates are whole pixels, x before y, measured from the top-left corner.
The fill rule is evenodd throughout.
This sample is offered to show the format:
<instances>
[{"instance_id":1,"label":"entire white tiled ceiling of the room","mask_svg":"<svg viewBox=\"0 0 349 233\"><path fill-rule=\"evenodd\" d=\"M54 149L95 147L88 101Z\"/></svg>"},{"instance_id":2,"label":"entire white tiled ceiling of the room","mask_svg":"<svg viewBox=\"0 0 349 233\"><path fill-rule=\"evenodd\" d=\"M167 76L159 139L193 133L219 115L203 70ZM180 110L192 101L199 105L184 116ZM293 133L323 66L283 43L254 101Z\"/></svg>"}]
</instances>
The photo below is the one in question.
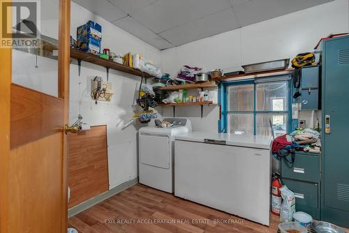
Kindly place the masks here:
<instances>
[{"instance_id":1,"label":"entire white tiled ceiling of the room","mask_svg":"<svg viewBox=\"0 0 349 233\"><path fill-rule=\"evenodd\" d=\"M334 0L73 0L159 50Z\"/></svg>"}]
</instances>

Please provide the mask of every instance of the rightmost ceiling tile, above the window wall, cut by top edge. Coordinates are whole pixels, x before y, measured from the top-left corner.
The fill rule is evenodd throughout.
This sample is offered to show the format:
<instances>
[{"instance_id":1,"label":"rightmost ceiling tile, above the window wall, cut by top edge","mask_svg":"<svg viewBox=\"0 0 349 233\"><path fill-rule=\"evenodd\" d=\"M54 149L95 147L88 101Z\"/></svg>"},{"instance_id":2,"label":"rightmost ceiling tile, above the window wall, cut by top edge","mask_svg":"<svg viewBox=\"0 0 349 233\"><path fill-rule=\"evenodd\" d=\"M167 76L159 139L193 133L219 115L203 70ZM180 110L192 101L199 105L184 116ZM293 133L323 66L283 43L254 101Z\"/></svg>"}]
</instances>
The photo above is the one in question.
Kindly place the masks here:
<instances>
[{"instance_id":1,"label":"rightmost ceiling tile, above the window wall, cut by top edge","mask_svg":"<svg viewBox=\"0 0 349 233\"><path fill-rule=\"evenodd\" d=\"M251 0L234 6L234 11L244 27L329 1L334 0Z\"/></svg>"}]
</instances>

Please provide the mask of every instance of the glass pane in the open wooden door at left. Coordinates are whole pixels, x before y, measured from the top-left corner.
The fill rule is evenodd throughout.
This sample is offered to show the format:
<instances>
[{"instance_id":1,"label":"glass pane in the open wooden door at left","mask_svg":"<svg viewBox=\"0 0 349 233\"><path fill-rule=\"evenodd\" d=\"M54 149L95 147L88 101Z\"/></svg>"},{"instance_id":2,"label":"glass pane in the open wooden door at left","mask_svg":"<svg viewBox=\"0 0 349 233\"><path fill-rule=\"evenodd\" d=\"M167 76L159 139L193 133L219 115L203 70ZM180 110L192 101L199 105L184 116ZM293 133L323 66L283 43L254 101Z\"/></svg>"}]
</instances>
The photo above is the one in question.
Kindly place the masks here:
<instances>
[{"instance_id":1,"label":"glass pane in the open wooden door at left","mask_svg":"<svg viewBox=\"0 0 349 233\"><path fill-rule=\"evenodd\" d=\"M38 21L34 24L41 33L40 48L13 48L12 82L58 97L58 56L54 50L58 50L59 1L38 3L40 12L37 12Z\"/></svg>"}]
</instances>

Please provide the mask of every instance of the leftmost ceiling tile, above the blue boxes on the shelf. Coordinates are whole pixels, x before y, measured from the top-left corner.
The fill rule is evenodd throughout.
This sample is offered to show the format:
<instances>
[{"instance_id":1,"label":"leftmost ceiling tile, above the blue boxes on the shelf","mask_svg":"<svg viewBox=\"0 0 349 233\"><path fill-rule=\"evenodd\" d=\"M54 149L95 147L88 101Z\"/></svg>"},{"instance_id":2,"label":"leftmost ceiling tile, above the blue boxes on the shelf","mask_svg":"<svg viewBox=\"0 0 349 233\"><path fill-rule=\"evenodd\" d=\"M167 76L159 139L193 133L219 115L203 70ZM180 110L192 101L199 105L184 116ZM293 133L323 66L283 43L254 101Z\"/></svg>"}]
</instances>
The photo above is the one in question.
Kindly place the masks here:
<instances>
[{"instance_id":1,"label":"leftmost ceiling tile, above the blue boxes on the shelf","mask_svg":"<svg viewBox=\"0 0 349 233\"><path fill-rule=\"evenodd\" d=\"M103 17L105 20L112 22L118 20L121 17L125 17L126 14L114 6L107 0L73 0L78 5L86 8L87 10Z\"/></svg>"}]
</instances>

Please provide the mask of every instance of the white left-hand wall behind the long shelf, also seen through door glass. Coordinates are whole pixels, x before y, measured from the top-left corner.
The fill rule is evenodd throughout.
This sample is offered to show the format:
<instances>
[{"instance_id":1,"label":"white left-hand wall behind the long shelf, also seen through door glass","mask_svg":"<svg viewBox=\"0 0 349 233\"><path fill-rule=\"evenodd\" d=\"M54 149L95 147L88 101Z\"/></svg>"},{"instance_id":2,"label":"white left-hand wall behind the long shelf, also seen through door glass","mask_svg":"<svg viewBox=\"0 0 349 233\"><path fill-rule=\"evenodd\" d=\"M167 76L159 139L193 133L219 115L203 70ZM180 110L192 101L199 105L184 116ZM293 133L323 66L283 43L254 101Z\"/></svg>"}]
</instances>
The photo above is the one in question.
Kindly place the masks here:
<instances>
[{"instance_id":1,"label":"white left-hand wall behind the long shelf, also seen through door glass","mask_svg":"<svg viewBox=\"0 0 349 233\"><path fill-rule=\"evenodd\" d=\"M58 2L45 0L41 7L41 32L45 36L57 39ZM76 28L88 20L98 22L103 27L102 48L108 47L117 54L140 53L154 63L161 64L161 52L155 47L71 2L70 34L74 38L76 38ZM38 68L35 68L34 61L34 55L14 50L13 82L57 96L57 61L38 57ZM73 123L77 115L82 114L84 123L89 123L91 126L107 125L109 181L110 188L113 188L138 176L137 133L138 128L144 125L136 121L127 127L125 124L135 114L133 103L140 85L140 77L110 70L109 81L112 82L115 94L110 103L98 102L96 105L90 97L90 83L95 76L106 80L105 68L82 61L80 76L77 70L77 61L73 59L70 64L69 121Z\"/></svg>"}]
</instances>

